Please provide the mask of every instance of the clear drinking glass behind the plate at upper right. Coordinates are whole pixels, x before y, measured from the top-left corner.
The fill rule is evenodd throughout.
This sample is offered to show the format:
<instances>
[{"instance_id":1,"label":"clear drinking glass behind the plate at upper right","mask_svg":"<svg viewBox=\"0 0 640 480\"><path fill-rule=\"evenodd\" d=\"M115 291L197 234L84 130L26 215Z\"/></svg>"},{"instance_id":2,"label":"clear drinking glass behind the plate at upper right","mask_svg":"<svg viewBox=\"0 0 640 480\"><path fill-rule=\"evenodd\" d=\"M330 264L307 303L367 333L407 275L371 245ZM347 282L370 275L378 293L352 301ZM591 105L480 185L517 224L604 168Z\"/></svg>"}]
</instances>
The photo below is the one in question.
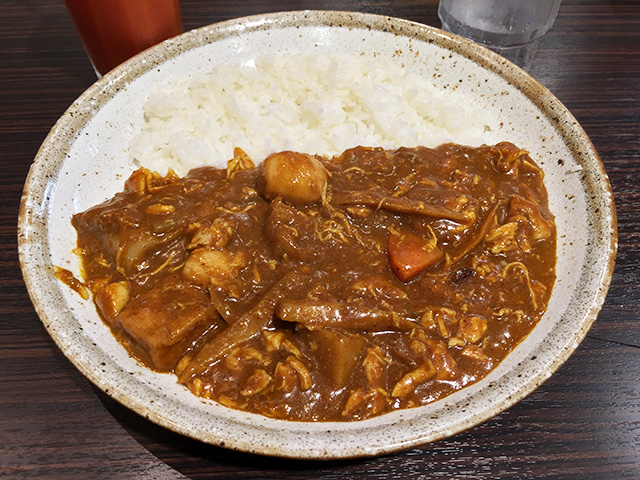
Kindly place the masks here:
<instances>
[{"instance_id":1,"label":"clear drinking glass behind the plate at upper right","mask_svg":"<svg viewBox=\"0 0 640 480\"><path fill-rule=\"evenodd\" d=\"M529 68L562 0L440 0L443 30L461 35Z\"/></svg>"}]
</instances>

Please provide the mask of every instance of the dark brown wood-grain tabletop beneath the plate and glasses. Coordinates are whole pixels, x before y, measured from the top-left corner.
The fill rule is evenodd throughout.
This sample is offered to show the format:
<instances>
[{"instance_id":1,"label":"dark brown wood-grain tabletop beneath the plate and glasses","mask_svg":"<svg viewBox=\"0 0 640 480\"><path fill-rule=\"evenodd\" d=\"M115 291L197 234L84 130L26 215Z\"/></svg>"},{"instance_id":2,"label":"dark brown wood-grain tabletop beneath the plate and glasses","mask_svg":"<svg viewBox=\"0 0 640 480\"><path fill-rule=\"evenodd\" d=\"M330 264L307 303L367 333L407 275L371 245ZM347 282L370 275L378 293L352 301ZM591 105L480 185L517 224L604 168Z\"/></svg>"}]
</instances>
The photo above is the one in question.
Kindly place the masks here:
<instances>
[{"instance_id":1,"label":"dark brown wood-grain tabletop beneath the plate and glasses","mask_svg":"<svg viewBox=\"0 0 640 480\"><path fill-rule=\"evenodd\" d=\"M437 1L183 0L186 29L278 10L357 10L439 26ZM301 462L183 438L94 388L36 316L17 255L27 171L95 76L61 0L0 3L0 477L640 479L640 3L564 0L531 73L573 112L609 173L618 262L576 353L508 411L381 458Z\"/></svg>"}]
</instances>

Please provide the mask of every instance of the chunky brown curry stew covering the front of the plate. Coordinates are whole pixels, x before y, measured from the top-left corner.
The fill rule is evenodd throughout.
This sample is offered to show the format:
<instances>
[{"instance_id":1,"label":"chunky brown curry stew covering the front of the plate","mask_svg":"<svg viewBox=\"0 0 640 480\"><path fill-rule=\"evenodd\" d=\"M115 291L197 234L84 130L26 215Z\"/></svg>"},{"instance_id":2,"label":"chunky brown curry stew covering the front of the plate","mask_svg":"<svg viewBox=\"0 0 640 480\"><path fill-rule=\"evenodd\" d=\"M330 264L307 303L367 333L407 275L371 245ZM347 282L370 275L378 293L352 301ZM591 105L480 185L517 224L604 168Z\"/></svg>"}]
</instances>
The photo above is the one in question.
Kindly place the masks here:
<instances>
[{"instance_id":1,"label":"chunky brown curry stew covering the front of the plate","mask_svg":"<svg viewBox=\"0 0 640 480\"><path fill-rule=\"evenodd\" d=\"M195 395L359 420L477 381L555 279L541 169L509 143L145 169L73 217L104 321Z\"/></svg>"}]
</instances>

